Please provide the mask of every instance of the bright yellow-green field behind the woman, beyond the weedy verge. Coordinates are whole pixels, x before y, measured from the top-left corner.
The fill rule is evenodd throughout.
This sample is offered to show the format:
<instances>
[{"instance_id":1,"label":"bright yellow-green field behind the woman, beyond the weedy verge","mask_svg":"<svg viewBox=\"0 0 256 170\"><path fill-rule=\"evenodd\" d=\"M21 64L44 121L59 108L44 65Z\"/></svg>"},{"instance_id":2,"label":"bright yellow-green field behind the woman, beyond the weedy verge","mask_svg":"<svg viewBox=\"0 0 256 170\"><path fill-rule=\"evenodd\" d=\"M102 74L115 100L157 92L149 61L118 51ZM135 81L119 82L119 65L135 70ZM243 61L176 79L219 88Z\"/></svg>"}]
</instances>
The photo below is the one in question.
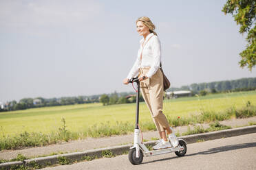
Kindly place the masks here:
<instances>
[{"instance_id":1,"label":"bright yellow-green field behind the woman, beyond the weedy verge","mask_svg":"<svg viewBox=\"0 0 256 170\"><path fill-rule=\"evenodd\" d=\"M256 104L256 91L170 99L164 100L164 114L169 117L188 117L191 114L198 114L200 110L220 112L231 107L242 108L246 106L247 101ZM71 132L81 132L87 127L107 121L109 125L114 125L117 121L134 123L135 107L135 104L81 104L0 112L0 133L48 133L61 127L62 118L65 118L67 130ZM151 121L144 102L140 103L140 121Z\"/></svg>"}]
</instances>

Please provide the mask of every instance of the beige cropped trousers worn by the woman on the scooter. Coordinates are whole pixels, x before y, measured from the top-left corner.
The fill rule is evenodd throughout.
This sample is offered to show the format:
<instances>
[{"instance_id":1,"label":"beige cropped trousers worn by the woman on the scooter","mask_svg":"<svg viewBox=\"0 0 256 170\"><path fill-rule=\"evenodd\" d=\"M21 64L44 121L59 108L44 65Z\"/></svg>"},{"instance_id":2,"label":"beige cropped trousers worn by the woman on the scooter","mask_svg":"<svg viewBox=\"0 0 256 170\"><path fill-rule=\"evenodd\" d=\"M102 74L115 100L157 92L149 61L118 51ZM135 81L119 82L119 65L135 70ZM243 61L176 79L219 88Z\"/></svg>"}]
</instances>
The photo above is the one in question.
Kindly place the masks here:
<instances>
[{"instance_id":1,"label":"beige cropped trousers worn by the woman on the scooter","mask_svg":"<svg viewBox=\"0 0 256 170\"><path fill-rule=\"evenodd\" d=\"M140 77L144 75L149 69L150 68L141 68L138 76ZM162 113L162 101L164 95L162 71L158 69L152 77L141 81L140 89L158 132L164 131L165 127L169 127L169 123Z\"/></svg>"}]
</instances>

